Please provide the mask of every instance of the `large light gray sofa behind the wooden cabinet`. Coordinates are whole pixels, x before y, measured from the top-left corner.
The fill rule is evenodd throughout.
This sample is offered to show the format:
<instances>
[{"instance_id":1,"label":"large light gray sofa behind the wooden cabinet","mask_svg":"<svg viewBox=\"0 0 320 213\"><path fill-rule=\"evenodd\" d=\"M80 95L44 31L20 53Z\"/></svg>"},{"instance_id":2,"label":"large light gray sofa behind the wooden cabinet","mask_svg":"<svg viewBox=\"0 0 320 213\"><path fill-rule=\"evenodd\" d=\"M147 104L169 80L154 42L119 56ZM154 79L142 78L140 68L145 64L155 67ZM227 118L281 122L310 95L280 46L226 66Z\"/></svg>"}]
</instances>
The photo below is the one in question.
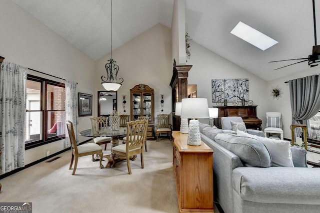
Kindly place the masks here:
<instances>
[{"instance_id":1,"label":"large light gray sofa behind the wooden cabinet","mask_svg":"<svg viewBox=\"0 0 320 213\"><path fill-rule=\"evenodd\" d=\"M255 147L254 138L201 123L200 136L213 150L214 201L224 213L319 212L320 168L307 168L304 149L288 145L292 167L276 167L266 146Z\"/></svg>"}]
</instances>

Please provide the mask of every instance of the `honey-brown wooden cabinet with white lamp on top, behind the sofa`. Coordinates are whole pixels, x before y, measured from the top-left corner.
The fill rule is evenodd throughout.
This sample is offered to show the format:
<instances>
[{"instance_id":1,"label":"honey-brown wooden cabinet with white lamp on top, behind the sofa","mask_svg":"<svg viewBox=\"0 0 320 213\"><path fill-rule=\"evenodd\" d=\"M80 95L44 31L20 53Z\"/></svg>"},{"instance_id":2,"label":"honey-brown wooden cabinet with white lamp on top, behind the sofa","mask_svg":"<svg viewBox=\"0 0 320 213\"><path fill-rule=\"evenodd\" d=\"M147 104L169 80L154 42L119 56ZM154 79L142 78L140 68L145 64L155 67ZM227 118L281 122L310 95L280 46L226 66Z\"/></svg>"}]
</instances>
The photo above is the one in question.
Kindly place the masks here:
<instances>
[{"instance_id":1,"label":"honey-brown wooden cabinet with white lamp on top, behind the sofa","mask_svg":"<svg viewBox=\"0 0 320 213\"><path fill-rule=\"evenodd\" d=\"M173 131L173 172L179 213L213 213L212 149L187 145L188 134Z\"/></svg>"}]
</instances>

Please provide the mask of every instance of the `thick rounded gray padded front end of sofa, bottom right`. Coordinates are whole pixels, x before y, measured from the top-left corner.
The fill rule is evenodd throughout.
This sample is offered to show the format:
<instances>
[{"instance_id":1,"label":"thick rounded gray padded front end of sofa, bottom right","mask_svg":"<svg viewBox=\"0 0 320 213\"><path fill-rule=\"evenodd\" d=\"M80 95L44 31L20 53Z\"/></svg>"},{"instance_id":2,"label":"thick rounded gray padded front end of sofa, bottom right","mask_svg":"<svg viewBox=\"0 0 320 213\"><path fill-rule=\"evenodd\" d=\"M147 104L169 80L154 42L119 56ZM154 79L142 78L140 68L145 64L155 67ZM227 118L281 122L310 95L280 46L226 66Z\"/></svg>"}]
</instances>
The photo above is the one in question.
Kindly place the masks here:
<instances>
[{"instance_id":1,"label":"thick rounded gray padded front end of sofa, bottom right","mask_svg":"<svg viewBox=\"0 0 320 213\"><path fill-rule=\"evenodd\" d=\"M232 187L244 201L318 205L319 174L320 168L238 167Z\"/></svg>"}]
</instances>

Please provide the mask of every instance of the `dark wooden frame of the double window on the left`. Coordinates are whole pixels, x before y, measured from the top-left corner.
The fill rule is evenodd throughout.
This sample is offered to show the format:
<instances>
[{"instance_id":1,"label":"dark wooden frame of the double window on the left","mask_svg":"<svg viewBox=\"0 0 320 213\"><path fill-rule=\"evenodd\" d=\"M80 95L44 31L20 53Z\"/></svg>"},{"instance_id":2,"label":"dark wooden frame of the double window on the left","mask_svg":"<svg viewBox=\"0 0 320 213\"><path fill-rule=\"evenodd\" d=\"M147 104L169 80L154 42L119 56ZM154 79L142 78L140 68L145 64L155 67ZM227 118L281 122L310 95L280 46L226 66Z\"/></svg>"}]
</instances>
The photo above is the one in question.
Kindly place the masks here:
<instances>
[{"instance_id":1,"label":"dark wooden frame of the double window on the left","mask_svg":"<svg viewBox=\"0 0 320 213\"><path fill-rule=\"evenodd\" d=\"M64 112L65 115L65 107L63 105L63 110L47 110L47 85L53 85L53 86L58 86L58 87L62 87L65 89L65 84L61 83L61 82L57 82L57 81L53 81L50 79L46 79L46 78L42 78L42 77L38 77L38 76L34 76L34 75L30 75L27 74L27 80L31 80L31 81L36 81L36 82L40 82L41 83L41 90L40 90L40 110L27 110L26 106L25 106L25 112L42 112L42 126L41 126L41 131L40 131L40 135L42 135L42 139L36 140L36 141L32 141L29 143L25 143L24 141L24 149L28 150L34 147L38 147L38 146L42 146L44 144L48 144L48 143L52 143L55 141L59 141L65 138L65 132L62 135L56 135L50 138L47 138L47 123L48 123L48 114L50 112ZM64 95L65 95L65 90L64 90ZM64 100L65 101L65 100Z\"/></svg>"}]
</instances>

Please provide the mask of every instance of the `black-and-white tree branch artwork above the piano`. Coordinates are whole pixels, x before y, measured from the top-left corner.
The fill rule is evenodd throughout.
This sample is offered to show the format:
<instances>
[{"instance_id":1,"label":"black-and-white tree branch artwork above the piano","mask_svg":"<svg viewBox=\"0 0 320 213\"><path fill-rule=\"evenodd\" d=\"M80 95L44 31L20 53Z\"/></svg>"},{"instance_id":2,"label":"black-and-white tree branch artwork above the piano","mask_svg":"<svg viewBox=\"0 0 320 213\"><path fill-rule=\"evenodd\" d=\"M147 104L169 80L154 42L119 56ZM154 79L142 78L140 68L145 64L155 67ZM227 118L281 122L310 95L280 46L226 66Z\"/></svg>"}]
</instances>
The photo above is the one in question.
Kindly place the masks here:
<instances>
[{"instance_id":1,"label":"black-and-white tree branch artwork above the piano","mask_svg":"<svg viewBox=\"0 0 320 213\"><path fill-rule=\"evenodd\" d=\"M212 79L212 103L249 100L249 79Z\"/></svg>"}]
</instances>

